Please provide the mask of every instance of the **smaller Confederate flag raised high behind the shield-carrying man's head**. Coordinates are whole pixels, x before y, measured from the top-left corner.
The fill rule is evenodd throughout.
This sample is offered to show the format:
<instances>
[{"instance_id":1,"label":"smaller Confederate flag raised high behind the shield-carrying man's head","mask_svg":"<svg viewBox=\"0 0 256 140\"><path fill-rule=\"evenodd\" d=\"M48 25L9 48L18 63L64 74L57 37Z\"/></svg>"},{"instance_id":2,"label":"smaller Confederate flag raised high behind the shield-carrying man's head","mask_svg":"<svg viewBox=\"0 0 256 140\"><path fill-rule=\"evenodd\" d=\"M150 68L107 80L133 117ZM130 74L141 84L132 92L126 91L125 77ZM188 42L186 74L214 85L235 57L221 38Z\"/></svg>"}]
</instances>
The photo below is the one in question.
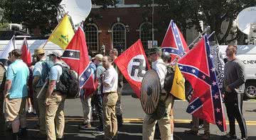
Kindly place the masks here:
<instances>
[{"instance_id":1,"label":"smaller Confederate flag raised high behind the shield-carrying man's head","mask_svg":"<svg viewBox=\"0 0 256 140\"><path fill-rule=\"evenodd\" d=\"M178 29L176 23L171 20L161 44L161 48L164 52L169 52L171 54L171 59L174 60L176 57L181 57L188 52L188 49L186 49L187 47L188 45L186 44L186 40L181 31Z\"/></svg>"}]
</instances>

